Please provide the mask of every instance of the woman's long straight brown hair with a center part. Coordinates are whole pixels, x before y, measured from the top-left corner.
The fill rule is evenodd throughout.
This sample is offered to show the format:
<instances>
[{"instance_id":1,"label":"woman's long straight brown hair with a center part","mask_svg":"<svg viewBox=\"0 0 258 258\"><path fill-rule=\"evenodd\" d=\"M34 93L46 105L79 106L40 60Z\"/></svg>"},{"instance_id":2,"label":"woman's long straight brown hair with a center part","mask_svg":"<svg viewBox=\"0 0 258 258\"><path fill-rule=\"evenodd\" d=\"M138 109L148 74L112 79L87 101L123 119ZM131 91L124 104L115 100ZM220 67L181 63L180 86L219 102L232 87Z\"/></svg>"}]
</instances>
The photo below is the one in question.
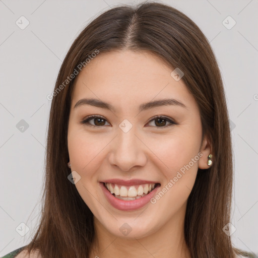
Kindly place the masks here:
<instances>
[{"instance_id":1,"label":"woman's long straight brown hair with a center part","mask_svg":"<svg viewBox=\"0 0 258 258\"><path fill-rule=\"evenodd\" d=\"M186 244L192 257L224 258L240 253L222 230L230 222L233 164L229 117L215 55L193 21L155 2L121 5L102 13L80 33L64 58L49 117L42 216L26 249L39 250L43 258L89 257L93 214L68 180L68 122L75 79L66 80L96 49L100 53L150 51L183 71L182 80L198 103L203 135L209 136L213 153L213 165L198 170L188 198Z\"/></svg>"}]
</instances>

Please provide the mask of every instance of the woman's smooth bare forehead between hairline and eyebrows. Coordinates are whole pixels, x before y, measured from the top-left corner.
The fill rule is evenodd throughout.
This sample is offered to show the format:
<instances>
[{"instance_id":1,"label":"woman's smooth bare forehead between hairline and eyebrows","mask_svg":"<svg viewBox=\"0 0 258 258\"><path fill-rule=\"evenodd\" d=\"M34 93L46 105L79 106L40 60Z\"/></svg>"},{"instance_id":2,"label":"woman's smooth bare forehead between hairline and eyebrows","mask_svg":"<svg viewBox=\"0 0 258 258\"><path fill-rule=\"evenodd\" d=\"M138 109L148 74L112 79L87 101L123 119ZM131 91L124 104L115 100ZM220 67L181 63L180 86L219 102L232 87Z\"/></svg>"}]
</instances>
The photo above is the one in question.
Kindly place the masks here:
<instances>
[{"instance_id":1,"label":"woman's smooth bare forehead between hairline and eyebrows","mask_svg":"<svg viewBox=\"0 0 258 258\"><path fill-rule=\"evenodd\" d=\"M118 102L120 107L168 97L195 102L183 81L171 77L173 70L150 52L100 52L79 73L72 105L86 97Z\"/></svg>"}]
</instances>

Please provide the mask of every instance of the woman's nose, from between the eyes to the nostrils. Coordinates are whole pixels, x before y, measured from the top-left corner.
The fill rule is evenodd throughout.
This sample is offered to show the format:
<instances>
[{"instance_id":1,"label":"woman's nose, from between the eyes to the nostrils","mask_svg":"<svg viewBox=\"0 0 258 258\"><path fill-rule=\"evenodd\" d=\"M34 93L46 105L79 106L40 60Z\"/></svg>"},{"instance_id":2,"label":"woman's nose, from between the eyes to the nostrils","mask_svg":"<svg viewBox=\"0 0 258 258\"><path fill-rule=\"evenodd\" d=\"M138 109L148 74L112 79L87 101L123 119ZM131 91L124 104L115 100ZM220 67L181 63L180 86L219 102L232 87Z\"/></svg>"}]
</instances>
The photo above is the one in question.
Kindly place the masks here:
<instances>
[{"instance_id":1,"label":"woman's nose, from between the eyes to the nostrils","mask_svg":"<svg viewBox=\"0 0 258 258\"><path fill-rule=\"evenodd\" d=\"M126 172L133 167L139 169L139 166L146 164L146 149L141 137L136 135L134 126L126 133L118 128L118 134L111 144L109 164Z\"/></svg>"}]
</instances>

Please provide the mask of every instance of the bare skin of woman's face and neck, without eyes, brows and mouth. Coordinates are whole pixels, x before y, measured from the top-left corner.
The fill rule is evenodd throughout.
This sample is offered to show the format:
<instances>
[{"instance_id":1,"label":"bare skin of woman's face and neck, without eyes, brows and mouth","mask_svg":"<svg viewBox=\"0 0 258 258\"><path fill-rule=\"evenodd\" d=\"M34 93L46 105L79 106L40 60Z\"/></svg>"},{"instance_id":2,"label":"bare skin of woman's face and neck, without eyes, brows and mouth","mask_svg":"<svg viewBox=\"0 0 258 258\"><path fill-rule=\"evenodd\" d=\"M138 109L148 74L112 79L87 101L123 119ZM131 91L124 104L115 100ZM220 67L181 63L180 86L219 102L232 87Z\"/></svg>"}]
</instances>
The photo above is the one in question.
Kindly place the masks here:
<instances>
[{"instance_id":1,"label":"bare skin of woman's face and neck, without eyes, brows and mouth","mask_svg":"<svg viewBox=\"0 0 258 258\"><path fill-rule=\"evenodd\" d=\"M71 171L75 184L94 214L95 240L90 257L190 257L183 227L187 198L198 168L206 169L211 152L207 136L202 143L198 105L182 80L171 76L174 68L150 52L130 50L99 53L77 76L72 94L68 128ZM110 103L110 111L91 105L74 108L82 98ZM139 112L142 103L174 98L187 108L163 105ZM92 125L81 124L89 115L102 116ZM159 126L152 118L165 116ZM124 133L119 124L127 119L133 127ZM157 120L156 120L157 121ZM99 181L140 178L160 182L161 189L184 165L202 153L185 174L155 204L135 211L120 211L106 200ZM132 231L124 236L119 228Z\"/></svg>"}]
</instances>

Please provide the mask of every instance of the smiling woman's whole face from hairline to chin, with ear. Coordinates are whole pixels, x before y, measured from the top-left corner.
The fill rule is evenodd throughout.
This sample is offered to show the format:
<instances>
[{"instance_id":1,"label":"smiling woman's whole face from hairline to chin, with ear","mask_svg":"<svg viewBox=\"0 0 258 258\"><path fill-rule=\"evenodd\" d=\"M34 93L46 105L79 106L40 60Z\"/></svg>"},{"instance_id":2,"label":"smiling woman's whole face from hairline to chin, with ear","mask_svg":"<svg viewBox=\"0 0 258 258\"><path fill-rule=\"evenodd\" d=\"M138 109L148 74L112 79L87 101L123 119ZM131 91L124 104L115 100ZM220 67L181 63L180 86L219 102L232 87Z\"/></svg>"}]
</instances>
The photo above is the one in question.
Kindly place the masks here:
<instances>
[{"instance_id":1,"label":"smiling woman's whole face from hairline to chin, with ear","mask_svg":"<svg viewBox=\"0 0 258 258\"><path fill-rule=\"evenodd\" d=\"M141 238L180 224L198 168L208 168L198 105L173 70L148 52L112 51L77 77L71 171L107 234Z\"/></svg>"}]
</instances>

